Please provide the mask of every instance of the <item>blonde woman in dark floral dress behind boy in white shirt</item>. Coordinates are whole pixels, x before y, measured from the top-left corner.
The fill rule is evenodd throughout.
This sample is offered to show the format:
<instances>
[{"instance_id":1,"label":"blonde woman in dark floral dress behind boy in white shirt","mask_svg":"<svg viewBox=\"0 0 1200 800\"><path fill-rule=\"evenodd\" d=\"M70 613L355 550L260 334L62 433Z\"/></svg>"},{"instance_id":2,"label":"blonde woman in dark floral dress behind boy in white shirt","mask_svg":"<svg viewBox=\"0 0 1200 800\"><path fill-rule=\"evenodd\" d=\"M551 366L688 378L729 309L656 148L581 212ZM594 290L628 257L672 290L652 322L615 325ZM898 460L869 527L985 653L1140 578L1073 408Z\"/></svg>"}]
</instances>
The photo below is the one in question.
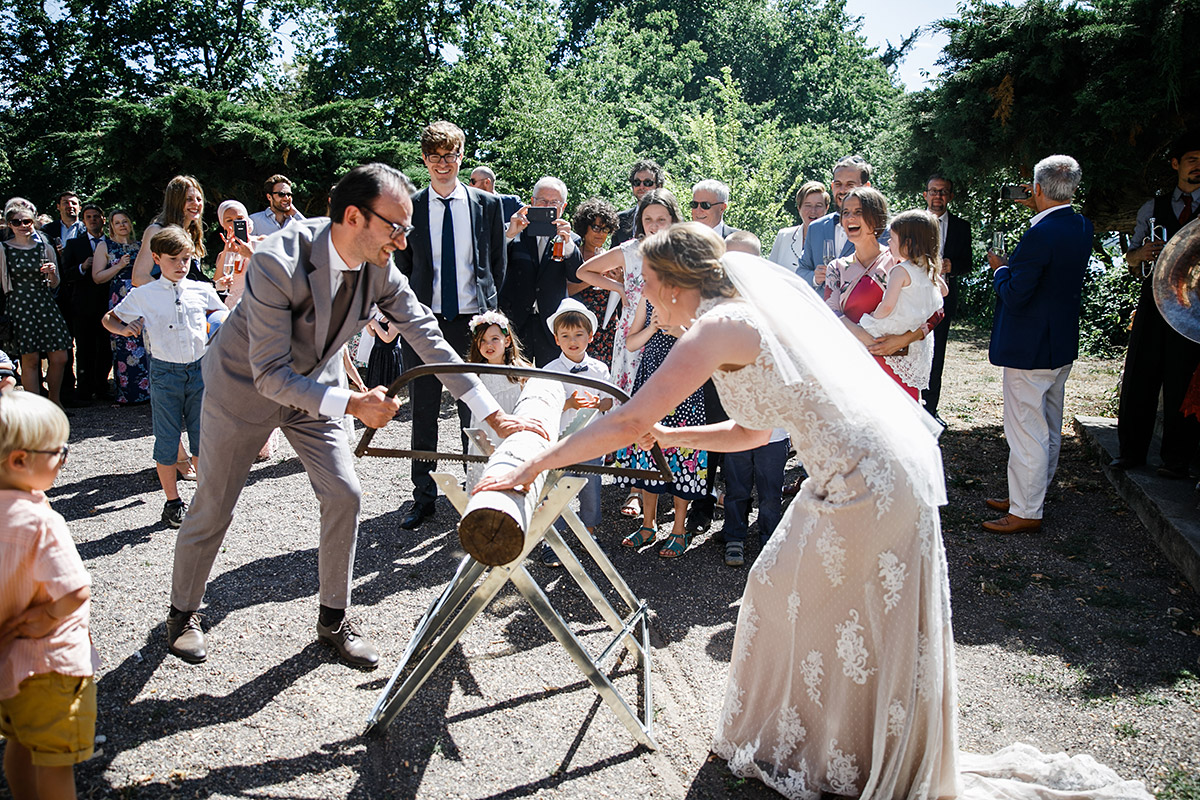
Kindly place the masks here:
<instances>
[{"instance_id":1,"label":"blonde woman in dark floral dress behind boy in white shirt","mask_svg":"<svg viewBox=\"0 0 1200 800\"><path fill-rule=\"evenodd\" d=\"M108 308L112 311L133 288L133 263L142 243L133 237L133 221L125 211L109 217L110 235L96 245L91 278L108 283ZM150 402L150 354L140 336L110 336L113 342L113 383L116 402L136 405Z\"/></svg>"}]
</instances>

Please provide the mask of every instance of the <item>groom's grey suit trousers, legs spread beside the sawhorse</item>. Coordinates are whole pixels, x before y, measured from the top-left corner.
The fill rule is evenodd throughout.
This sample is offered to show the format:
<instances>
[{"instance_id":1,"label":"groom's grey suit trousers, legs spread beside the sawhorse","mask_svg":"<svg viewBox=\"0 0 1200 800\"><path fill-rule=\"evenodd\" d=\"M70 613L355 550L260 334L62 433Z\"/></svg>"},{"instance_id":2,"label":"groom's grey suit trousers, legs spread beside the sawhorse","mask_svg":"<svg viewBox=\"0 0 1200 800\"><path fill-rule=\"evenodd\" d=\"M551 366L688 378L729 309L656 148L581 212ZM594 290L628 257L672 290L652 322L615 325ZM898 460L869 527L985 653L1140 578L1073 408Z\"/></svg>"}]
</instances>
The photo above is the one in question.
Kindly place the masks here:
<instances>
[{"instance_id":1,"label":"groom's grey suit trousers, legs spread beside the sawhorse","mask_svg":"<svg viewBox=\"0 0 1200 800\"><path fill-rule=\"evenodd\" d=\"M175 542L170 604L181 610L200 607L250 468L271 431L281 428L320 501L320 604L349 606L362 489L341 421L318 420L281 407L278 416L246 422L205 397L200 427L210 433L200 439L199 482ZM212 435L217 431L220 434Z\"/></svg>"}]
</instances>

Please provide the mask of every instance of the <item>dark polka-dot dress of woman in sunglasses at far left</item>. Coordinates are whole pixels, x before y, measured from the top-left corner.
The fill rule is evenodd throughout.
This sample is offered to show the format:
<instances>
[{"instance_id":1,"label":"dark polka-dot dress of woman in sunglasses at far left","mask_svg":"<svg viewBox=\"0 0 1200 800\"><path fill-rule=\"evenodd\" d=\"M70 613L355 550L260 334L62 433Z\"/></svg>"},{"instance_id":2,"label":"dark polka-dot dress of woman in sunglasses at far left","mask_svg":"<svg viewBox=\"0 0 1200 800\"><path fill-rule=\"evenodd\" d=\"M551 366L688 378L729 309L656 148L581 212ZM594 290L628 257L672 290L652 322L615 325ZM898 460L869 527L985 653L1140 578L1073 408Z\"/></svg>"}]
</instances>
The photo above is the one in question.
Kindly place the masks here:
<instances>
[{"instance_id":1,"label":"dark polka-dot dress of woman in sunglasses at far left","mask_svg":"<svg viewBox=\"0 0 1200 800\"><path fill-rule=\"evenodd\" d=\"M22 249L4 242L4 251L12 283L8 319L17 353L70 350L71 333L42 275L42 246Z\"/></svg>"}]
</instances>

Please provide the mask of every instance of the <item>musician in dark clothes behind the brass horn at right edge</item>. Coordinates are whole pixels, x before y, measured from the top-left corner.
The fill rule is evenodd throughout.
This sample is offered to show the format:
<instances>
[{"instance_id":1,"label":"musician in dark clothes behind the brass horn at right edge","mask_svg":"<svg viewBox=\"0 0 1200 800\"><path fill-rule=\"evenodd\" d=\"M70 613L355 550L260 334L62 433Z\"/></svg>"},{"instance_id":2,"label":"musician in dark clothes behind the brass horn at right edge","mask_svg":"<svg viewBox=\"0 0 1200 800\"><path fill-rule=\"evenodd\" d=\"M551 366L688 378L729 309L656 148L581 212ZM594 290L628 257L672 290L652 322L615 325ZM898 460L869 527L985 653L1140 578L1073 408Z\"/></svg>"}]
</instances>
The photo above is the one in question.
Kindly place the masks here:
<instances>
[{"instance_id":1,"label":"musician in dark clothes behind the brass horn at right edge","mask_svg":"<svg viewBox=\"0 0 1200 800\"><path fill-rule=\"evenodd\" d=\"M1121 379L1121 408L1117 411L1120 455L1114 469L1132 469L1146 463L1150 440L1158 416L1158 393L1163 393L1163 446L1159 450L1163 477L1188 477L1188 464L1200 443L1200 422L1180 410L1188 383L1200 363L1200 344L1188 339L1166 320L1154 302L1153 264L1163 252L1162 240L1151 237L1154 227L1166 229L1171 239L1200 212L1200 134L1187 133L1168 154L1175 172L1175 186L1146 200L1138 211L1133 247L1126 263L1141 279L1141 295L1129 332L1124 375ZM1162 233L1162 231L1160 231Z\"/></svg>"}]
</instances>

